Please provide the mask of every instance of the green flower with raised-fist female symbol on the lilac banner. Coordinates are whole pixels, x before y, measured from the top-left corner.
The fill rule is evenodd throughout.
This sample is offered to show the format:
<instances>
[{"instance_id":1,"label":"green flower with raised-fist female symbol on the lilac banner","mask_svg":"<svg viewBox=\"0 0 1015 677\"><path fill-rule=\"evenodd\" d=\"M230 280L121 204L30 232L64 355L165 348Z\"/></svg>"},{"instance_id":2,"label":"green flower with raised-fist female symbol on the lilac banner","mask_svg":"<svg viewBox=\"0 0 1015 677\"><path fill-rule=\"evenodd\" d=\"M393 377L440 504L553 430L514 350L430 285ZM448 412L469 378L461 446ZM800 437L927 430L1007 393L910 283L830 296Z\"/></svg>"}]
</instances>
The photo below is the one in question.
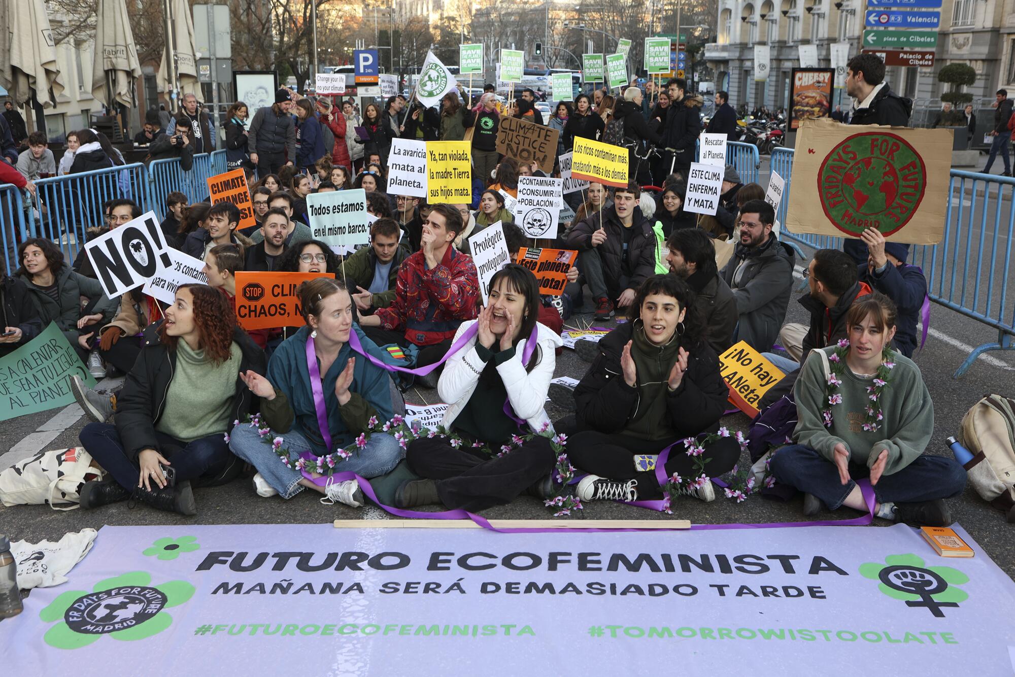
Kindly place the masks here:
<instances>
[{"instance_id":1,"label":"green flower with raised-fist female symbol on the lilac banner","mask_svg":"<svg viewBox=\"0 0 1015 677\"><path fill-rule=\"evenodd\" d=\"M888 555L885 563L866 562L860 574L879 581L878 590L892 599L902 600L909 607L926 607L938 618L944 617L945 607L957 607L969 599L961 588L969 577L951 566L924 566L924 560L909 553Z\"/></svg>"}]
</instances>

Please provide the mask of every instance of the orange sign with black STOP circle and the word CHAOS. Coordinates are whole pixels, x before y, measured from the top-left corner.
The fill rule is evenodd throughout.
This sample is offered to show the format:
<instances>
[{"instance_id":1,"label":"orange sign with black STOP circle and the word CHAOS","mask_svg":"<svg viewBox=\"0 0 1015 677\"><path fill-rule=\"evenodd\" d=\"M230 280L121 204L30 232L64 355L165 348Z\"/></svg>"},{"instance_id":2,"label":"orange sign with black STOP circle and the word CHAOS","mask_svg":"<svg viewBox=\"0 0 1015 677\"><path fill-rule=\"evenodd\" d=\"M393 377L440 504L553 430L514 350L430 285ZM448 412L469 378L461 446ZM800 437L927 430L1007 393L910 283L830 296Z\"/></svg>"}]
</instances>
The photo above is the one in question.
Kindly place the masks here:
<instances>
[{"instance_id":1,"label":"orange sign with black STOP circle and the word CHAOS","mask_svg":"<svg viewBox=\"0 0 1015 677\"><path fill-rule=\"evenodd\" d=\"M339 191L341 192L341 191ZM244 329L302 327L299 285L330 273L236 271L236 320Z\"/></svg>"}]
</instances>

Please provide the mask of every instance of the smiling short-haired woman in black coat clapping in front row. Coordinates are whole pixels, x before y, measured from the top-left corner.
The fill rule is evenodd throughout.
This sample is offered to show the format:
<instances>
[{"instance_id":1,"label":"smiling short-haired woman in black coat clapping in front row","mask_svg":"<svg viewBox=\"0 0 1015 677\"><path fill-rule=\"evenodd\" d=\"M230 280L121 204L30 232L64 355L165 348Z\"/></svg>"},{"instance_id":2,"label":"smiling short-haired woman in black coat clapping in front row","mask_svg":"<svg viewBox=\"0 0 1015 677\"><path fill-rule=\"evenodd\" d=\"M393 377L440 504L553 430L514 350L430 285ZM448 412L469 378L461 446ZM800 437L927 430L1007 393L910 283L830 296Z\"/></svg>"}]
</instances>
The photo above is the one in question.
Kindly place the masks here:
<instances>
[{"instance_id":1,"label":"smiling short-haired woman in black coat clapping in front row","mask_svg":"<svg viewBox=\"0 0 1015 677\"><path fill-rule=\"evenodd\" d=\"M590 473L578 484L582 500L661 498L655 472L639 471L633 457L715 432L726 410L730 392L687 283L676 275L654 275L638 288L632 308L639 317L603 337L599 356L574 389L579 431L567 443L567 456ZM701 456L708 477L728 472L739 458L733 437L706 445ZM716 497L683 445L666 462L666 474L674 473L688 480L682 493ZM697 486L689 482L695 479Z\"/></svg>"}]
</instances>

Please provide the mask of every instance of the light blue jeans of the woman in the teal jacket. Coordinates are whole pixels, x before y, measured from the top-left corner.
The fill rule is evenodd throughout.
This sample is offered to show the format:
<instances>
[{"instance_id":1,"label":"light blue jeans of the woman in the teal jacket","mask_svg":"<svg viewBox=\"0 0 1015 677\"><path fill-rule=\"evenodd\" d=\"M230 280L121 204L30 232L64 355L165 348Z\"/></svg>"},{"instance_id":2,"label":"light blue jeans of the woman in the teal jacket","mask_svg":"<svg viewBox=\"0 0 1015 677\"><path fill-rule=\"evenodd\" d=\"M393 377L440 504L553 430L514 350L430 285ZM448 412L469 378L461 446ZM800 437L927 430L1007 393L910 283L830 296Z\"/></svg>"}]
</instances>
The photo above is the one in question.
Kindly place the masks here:
<instances>
[{"instance_id":1,"label":"light blue jeans of the woman in the teal jacket","mask_svg":"<svg viewBox=\"0 0 1015 677\"><path fill-rule=\"evenodd\" d=\"M282 437L283 447L289 450L289 460L295 461L303 452L313 451L307 438L296 432L271 431L265 437L258 434L257 427L250 423L240 423L229 433L229 449L261 473L265 481L278 491L283 498L291 498L303 487L299 480L303 475L295 468L287 468L271 449L271 439ZM391 472L405 456L395 437L387 432L375 432L366 441L366 447L335 465L335 472L354 472L360 477L370 478Z\"/></svg>"}]
</instances>

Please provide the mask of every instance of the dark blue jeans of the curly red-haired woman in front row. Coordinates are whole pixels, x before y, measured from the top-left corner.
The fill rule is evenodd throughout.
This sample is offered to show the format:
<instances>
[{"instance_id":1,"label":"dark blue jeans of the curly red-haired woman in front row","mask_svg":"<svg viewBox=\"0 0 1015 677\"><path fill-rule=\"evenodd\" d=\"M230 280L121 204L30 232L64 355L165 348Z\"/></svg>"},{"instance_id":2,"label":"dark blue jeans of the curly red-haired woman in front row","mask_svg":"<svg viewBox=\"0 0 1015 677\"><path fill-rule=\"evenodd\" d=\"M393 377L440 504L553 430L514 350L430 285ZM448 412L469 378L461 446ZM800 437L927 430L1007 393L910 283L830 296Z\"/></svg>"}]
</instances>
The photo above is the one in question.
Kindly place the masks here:
<instances>
[{"instance_id":1,"label":"dark blue jeans of the curly red-haired woman in front row","mask_svg":"<svg viewBox=\"0 0 1015 677\"><path fill-rule=\"evenodd\" d=\"M129 490L137 486L140 480L138 463L124 451L116 425L88 423L78 438L120 486ZM185 443L156 431L155 438L159 453L176 472L177 484L191 480L193 486L217 486L232 481L240 474L242 464L229 453L222 434Z\"/></svg>"}]
</instances>

